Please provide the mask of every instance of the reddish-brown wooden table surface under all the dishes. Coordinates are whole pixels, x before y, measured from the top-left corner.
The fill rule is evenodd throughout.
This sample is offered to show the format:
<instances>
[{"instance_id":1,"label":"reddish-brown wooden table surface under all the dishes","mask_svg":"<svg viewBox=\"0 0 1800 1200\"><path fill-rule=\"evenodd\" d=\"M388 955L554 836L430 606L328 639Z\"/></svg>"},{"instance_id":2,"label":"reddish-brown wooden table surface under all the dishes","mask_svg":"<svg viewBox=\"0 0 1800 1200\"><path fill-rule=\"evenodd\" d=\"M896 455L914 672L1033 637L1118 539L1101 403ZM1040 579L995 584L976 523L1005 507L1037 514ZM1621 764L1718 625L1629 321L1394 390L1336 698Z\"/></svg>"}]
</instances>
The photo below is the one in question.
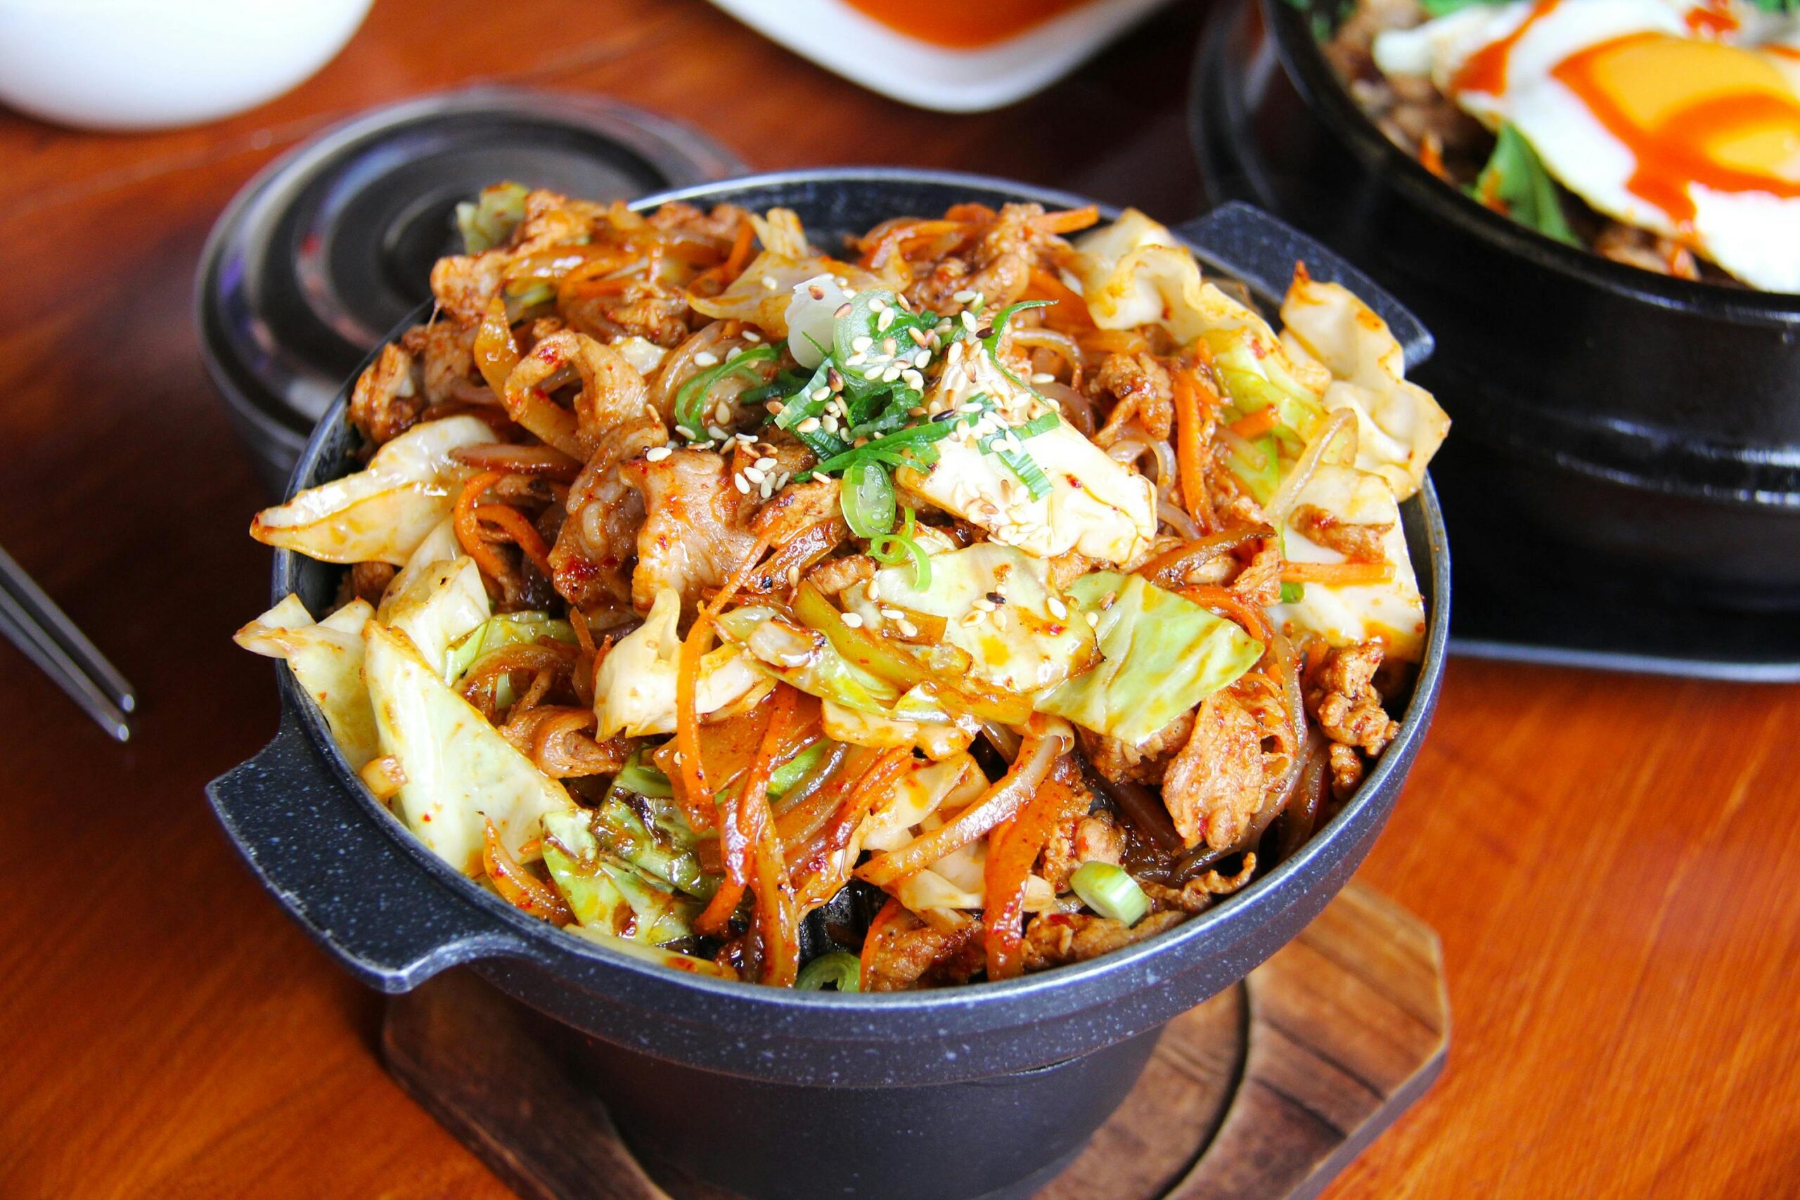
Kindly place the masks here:
<instances>
[{"instance_id":1,"label":"reddish-brown wooden table surface under all the dishes","mask_svg":"<svg viewBox=\"0 0 1800 1200\"><path fill-rule=\"evenodd\" d=\"M119 747L0 649L0 1193L504 1195L387 1079L376 997L202 797L275 729L268 664L229 640L266 601L245 536L263 497L189 318L202 239L252 171L367 104L502 79L657 108L756 167L968 167L1179 219L1201 16L945 117L698 0L380 0L320 76L234 121L0 115L0 542L146 698ZM1796 730L1789 687L1451 664L1363 873L1444 936L1451 1063L1334 1196L1791 1195Z\"/></svg>"}]
</instances>

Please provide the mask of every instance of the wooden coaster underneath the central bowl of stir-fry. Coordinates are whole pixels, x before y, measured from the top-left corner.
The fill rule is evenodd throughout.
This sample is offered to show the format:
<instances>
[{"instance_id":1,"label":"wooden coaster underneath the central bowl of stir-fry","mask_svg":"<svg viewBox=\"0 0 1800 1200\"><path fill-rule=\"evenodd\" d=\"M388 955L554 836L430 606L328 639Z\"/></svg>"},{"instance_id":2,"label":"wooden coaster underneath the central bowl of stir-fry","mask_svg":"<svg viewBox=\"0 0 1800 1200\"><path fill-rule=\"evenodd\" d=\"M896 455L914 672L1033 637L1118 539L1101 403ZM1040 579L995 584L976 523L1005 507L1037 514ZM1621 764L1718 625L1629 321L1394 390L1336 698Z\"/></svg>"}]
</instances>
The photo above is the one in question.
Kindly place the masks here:
<instances>
[{"instance_id":1,"label":"wooden coaster underneath the central bowl of stir-fry","mask_svg":"<svg viewBox=\"0 0 1800 1200\"><path fill-rule=\"evenodd\" d=\"M520 1196L671 1200L529 1025L450 972L389 1002L382 1049ZM1447 1045L1436 934L1352 883L1242 984L1168 1024L1143 1079L1037 1200L1314 1196L1418 1099ZM722 1195L675 1200L697 1193Z\"/></svg>"}]
</instances>

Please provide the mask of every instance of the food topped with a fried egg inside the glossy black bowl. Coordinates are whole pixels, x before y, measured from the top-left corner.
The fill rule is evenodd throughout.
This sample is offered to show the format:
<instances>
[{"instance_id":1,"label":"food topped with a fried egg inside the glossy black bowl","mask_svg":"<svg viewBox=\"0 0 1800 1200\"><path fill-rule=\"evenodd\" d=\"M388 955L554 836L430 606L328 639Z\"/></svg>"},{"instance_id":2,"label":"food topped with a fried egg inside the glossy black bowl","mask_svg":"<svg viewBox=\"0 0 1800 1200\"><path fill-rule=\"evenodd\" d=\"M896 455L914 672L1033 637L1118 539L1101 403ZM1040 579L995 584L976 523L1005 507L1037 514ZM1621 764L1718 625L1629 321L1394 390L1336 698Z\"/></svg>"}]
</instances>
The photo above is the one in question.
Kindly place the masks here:
<instances>
[{"instance_id":1,"label":"food topped with a fried egg inside the glossy black bowl","mask_svg":"<svg viewBox=\"0 0 1800 1200\"><path fill-rule=\"evenodd\" d=\"M1546 237L1800 291L1795 0L1346 0L1325 52L1381 130Z\"/></svg>"}]
</instances>

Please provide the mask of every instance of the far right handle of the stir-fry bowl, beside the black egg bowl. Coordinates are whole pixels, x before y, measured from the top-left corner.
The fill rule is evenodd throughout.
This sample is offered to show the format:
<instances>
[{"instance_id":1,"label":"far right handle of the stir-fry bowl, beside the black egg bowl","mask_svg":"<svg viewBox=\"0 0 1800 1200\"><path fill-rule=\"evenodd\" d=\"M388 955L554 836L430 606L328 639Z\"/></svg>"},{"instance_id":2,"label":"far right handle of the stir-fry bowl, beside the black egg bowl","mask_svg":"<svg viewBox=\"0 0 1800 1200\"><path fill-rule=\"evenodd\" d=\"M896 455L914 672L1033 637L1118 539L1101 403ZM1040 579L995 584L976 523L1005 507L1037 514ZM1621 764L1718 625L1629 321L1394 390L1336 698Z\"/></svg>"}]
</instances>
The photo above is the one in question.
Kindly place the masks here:
<instances>
[{"instance_id":1,"label":"far right handle of the stir-fry bowl, beside the black egg bowl","mask_svg":"<svg viewBox=\"0 0 1800 1200\"><path fill-rule=\"evenodd\" d=\"M1431 331L1404 304L1337 254L1262 209L1229 200L1199 219L1177 225L1175 234L1204 250L1228 273L1269 295L1287 295L1294 263L1303 261L1314 279L1350 288L1388 322L1406 351L1408 371L1431 358L1436 345Z\"/></svg>"}]
</instances>

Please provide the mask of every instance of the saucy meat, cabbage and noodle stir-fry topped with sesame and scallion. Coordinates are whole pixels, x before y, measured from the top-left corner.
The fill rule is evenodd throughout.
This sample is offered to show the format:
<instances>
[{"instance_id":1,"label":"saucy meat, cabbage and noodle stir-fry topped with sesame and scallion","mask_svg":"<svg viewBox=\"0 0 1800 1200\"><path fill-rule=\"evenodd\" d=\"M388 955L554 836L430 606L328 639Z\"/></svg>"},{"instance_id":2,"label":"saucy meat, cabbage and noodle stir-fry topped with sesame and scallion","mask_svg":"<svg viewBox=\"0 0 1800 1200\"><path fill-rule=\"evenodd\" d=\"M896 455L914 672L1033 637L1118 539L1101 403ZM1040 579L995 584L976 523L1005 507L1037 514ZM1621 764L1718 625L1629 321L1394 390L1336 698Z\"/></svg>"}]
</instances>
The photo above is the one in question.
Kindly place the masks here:
<instances>
[{"instance_id":1,"label":"saucy meat, cabbage and noodle stir-fry topped with sesame and scallion","mask_svg":"<svg viewBox=\"0 0 1800 1200\"><path fill-rule=\"evenodd\" d=\"M1296 270L1276 336L1093 209L463 225L364 468L252 525L337 608L238 640L518 909L776 986L1010 979L1244 887L1395 736L1447 419L1343 288Z\"/></svg>"}]
</instances>

